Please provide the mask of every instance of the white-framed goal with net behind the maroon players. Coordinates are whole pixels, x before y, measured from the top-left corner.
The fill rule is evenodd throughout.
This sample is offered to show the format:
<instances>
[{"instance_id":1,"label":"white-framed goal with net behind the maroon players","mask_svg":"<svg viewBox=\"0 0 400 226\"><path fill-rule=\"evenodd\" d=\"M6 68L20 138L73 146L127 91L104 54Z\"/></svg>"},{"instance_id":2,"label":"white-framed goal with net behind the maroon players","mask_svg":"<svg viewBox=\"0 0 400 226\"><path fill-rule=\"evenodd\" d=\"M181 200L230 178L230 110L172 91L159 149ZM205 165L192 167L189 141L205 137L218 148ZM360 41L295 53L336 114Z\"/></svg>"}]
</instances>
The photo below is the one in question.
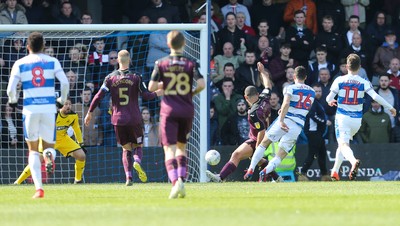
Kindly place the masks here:
<instances>
[{"instance_id":1,"label":"white-framed goal with net behind the maroon players","mask_svg":"<svg viewBox=\"0 0 400 226\"><path fill-rule=\"evenodd\" d=\"M0 32L1 65L1 152L0 183L13 183L28 164L28 148L23 138L22 104L16 109L7 106L6 89L13 63L27 55L26 39L32 31L41 31L46 40L45 53L59 59L70 82L72 110L79 115L84 143L87 149L84 181L86 183L124 182L122 148L117 145L110 123L110 101L106 96L95 110L95 120L88 127L83 118L93 95L105 76L116 69L117 52L126 49L131 53L131 70L142 74L148 84L154 61L169 54L166 34L181 30L186 37L185 55L196 59L200 72L207 81L208 34L205 24L168 25L3 25ZM23 87L21 87L23 89ZM57 89L57 84L56 84ZM21 94L22 97L22 94ZM160 100L140 100L141 109L148 109L155 125L159 119ZM195 119L187 145L188 181L204 182L207 151L208 120L207 91L193 98ZM155 132L158 132L156 130ZM148 139L146 139L148 137ZM145 135L142 167L149 182L167 182L164 152L157 136ZM43 173L47 183L71 183L74 180L75 159L65 158L59 152L52 175ZM135 175L135 174L134 174ZM139 181L134 176L134 181ZM31 182L30 179L26 183Z\"/></svg>"}]
</instances>

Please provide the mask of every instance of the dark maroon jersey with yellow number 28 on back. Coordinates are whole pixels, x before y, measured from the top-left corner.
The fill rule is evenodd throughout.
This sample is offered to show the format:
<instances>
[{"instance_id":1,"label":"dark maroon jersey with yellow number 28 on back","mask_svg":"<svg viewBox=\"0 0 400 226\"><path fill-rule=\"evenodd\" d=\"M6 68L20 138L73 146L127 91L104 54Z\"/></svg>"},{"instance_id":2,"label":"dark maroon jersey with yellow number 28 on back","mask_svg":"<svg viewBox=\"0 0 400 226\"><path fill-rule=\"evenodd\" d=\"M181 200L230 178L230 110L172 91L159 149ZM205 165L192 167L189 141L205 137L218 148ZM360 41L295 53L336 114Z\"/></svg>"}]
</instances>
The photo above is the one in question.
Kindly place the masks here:
<instances>
[{"instance_id":1,"label":"dark maroon jersey with yellow number 28 on back","mask_svg":"<svg viewBox=\"0 0 400 226\"><path fill-rule=\"evenodd\" d=\"M156 61L151 79L163 82L160 115L193 117L193 80L202 77L197 63L182 55L170 55Z\"/></svg>"}]
</instances>

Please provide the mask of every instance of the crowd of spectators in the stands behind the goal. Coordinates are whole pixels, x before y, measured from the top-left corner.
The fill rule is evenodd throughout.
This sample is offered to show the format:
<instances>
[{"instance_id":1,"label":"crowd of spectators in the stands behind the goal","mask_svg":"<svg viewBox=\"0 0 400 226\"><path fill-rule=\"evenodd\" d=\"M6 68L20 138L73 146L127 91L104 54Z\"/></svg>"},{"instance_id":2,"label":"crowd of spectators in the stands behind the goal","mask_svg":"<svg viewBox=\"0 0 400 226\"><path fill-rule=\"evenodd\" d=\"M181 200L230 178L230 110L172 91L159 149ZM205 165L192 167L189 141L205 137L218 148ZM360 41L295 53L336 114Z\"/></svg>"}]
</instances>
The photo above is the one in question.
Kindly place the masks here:
<instances>
[{"instance_id":1,"label":"crowd of spectators in the stands behind the goal","mask_svg":"<svg viewBox=\"0 0 400 226\"><path fill-rule=\"evenodd\" d=\"M206 8L195 11L204 2L102 0L101 23L205 23ZM3 0L0 3L0 23L93 23L93 12L80 9L77 3L74 0ZM294 68L298 65L308 68L306 83L318 83L322 88L321 104L328 116L325 138L329 142L335 142L335 108L329 107L324 101L332 81L347 73L344 59L350 53L356 53L362 59L360 76L370 80L380 95L400 109L399 6L400 0L212 1L209 75L211 145L232 144L235 143L233 140L243 139L243 133L239 133L245 131L244 113L240 112L243 108L243 89L248 85L254 85L260 91L263 89L257 62L264 64L274 83L272 117L277 117L283 88L294 82ZM24 39L3 39L2 44L0 66L4 97L9 70L27 51ZM44 53L57 57L62 63L71 84L71 101L74 110L81 112L80 117L84 115L105 76L117 69L118 50L128 49L131 52L132 70L142 74L144 82L149 81L154 61L169 54L166 33L163 32L126 38L77 38L72 42L57 40L46 45ZM113 133L110 133L112 128L108 125L110 101L109 98L105 100L96 113L97 120L93 121L90 128L83 129L90 131L85 134L87 145L115 145L115 142L110 143L106 139ZM22 137L18 137L21 134L18 131L21 128L18 125L21 109L9 112L5 103L3 98L2 144L15 145L16 139L20 139L22 144ZM158 126L159 101L142 104L145 134L150 139L146 143L156 145L159 141L150 137L157 137L154 132L158 131L155 128ZM374 135L368 128L377 125L368 123L377 115L376 112L381 111L366 98L365 112L369 114L363 120L363 129L356 142L375 142L369 139ZM383 113L386 113L385 109ZM389 137L380 140L400 142L400 133L396 132L400 131L399 120L390 118ZM382 131L386 131L387 124L381 126ZM385 133L379 134L386 136Z\"/></svg>"}]
</instances>

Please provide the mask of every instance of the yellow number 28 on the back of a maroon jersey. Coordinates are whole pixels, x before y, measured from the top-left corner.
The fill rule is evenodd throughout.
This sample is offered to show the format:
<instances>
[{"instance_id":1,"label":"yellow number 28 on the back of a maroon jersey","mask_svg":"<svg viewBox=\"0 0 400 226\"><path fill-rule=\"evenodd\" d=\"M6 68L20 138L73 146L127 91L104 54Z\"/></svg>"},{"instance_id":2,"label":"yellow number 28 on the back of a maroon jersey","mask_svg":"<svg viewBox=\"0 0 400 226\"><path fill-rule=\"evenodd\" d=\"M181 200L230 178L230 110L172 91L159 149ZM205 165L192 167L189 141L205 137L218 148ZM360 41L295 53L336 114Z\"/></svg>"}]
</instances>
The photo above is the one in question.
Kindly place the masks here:
<instances>
[{"instance_id":1,"label":"yellow number 28 on the back of a maroon jersey","mask_svg":"<svg viewBox=\"0 0 400 226\"><path fill-rule=\"evenodd\" d=\"M190 79L187 73L181 72L175 74L173 72L167 72L164 73L164 75L171 79L164 91L165 95L186 95L190 92Z\"/></svg>"}]
</instances>

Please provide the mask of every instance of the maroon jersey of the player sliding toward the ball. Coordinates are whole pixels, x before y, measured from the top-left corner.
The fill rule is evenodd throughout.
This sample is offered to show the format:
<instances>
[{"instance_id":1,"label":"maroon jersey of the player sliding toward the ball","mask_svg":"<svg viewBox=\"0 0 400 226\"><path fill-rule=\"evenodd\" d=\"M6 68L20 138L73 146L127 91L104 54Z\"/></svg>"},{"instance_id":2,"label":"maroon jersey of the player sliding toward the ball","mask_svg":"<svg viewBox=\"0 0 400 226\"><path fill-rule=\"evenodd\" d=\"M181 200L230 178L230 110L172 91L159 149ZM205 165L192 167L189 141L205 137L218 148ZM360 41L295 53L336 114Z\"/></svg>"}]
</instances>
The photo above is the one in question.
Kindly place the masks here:
<instances>
[{"instance_id":1,"label":"maroon jersey of the player sliding toward the ball","mask_svg":"<svg viewBox=\"0 0 400 226\"><path fill-rule=\"evenodd\" d=\"M250 123L249 138L257 141L258 132L266 129L267 119L271 114L271 105L269 104L270 91L264 89L257 102L249 110L248 120Z\"/></svg>"}]
</instances>

